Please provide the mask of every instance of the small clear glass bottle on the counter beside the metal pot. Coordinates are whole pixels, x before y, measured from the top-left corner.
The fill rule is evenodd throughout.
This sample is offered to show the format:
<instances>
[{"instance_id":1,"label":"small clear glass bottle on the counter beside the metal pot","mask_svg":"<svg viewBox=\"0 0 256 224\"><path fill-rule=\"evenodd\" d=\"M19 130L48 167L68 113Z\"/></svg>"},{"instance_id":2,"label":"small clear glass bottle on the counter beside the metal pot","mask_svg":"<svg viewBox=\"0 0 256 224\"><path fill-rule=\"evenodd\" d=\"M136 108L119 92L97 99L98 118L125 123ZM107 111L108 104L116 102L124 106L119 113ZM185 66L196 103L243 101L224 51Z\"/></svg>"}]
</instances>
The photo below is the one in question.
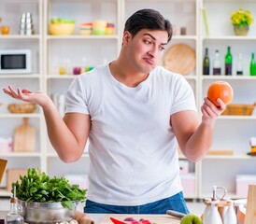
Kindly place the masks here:
<instances>
[{"instance_id":1,"label":"small clear glass bottle on the counter beside the metal pot","mask_svg":"<svg viewBox=\"0 0 256 224\"><path fill-rule=\"evenodd\" d=\"M13 189L13 197L10 198L10 211L7 214L7 224L23 224L24 217L21 215L21 205L16 198L16 187Z\"/></svg>"}]
</instances>

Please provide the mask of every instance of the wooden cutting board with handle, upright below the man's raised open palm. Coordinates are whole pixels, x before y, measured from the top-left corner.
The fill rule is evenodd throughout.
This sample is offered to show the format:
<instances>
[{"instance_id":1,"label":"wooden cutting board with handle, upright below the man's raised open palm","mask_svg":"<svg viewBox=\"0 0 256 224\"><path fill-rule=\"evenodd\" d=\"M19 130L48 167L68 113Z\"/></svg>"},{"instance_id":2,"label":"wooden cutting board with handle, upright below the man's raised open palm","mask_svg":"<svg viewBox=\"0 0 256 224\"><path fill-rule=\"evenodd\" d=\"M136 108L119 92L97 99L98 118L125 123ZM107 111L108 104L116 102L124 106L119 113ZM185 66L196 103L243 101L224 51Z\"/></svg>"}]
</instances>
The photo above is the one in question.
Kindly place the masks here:
<instances>
[{"instance_id":1,"label":"wooden cutting board with handle, upright below the man's raised open palm","mask_svg":"<svg viewBox=\"0 0 256 224\"><path fill-rule=\"evenodd\" d=\"M28 125L28 118L24 118L22 125L15 129L13 137L13 151L33 152L35 150L36 130Z\"/></svg>"}]
</instances>

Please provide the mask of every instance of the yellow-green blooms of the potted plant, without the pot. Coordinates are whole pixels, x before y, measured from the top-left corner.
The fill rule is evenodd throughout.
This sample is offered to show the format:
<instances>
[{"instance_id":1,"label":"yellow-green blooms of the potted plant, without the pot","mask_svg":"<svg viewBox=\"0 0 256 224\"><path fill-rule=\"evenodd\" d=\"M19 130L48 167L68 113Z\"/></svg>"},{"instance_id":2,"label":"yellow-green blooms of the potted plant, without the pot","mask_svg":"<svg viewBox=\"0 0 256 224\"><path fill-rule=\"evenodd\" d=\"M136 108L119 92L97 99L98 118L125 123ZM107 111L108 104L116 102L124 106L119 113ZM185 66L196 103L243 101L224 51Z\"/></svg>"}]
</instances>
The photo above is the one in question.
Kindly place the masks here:
<instances>
[{"instance_id":1,"label":"yellow-green blooms of the potted plant, without the pot","mask_svg":"<svg viewBox=\"0 0 256 224\"><path fill-rule=\"evenodd\" d=\"M254 23L254 19L250 10L239 8L231 14L231 21L233 25L250 25Z\"/></svg>"}]
</instances>

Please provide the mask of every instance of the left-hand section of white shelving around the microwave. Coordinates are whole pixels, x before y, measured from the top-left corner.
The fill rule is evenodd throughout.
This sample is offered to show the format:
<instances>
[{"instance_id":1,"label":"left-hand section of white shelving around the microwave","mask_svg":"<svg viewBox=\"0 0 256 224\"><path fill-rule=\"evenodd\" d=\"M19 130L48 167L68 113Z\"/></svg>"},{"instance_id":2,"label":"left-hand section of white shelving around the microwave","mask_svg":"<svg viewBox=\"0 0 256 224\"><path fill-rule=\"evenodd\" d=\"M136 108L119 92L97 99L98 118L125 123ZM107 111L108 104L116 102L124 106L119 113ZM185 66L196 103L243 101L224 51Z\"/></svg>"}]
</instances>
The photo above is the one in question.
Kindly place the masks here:
<instances>
[{"instance_id":1,"label":"left-hand section of white shelving around the microwave","mask_svg":"<svg viewBox=\"0 0 256 224\"><path fill-rule=\"evenodd\" d=\"M35 35L19 35L21 14L31 12ZM0 25L10 27L9 35L0 35L0 49L31 49L32 51L32 74L29 75L0 75L0 88L12 85L14 88L23 87L32 91L43 88L43 0L0 0ZM12 137L15 128L21 125L23 118L29 118L29 124L36 129L36 151L33 153L1 153L0 157L7 159L7 168L28 168L30 166L42 167L45 164L43 158L44 129L43 117L40 108L37 107L34 114L10 114L7 105L18 101L10 99L1 93L0 106L0 136ZM6 185L6 176L1 186ZM0 196L9 196L10 192L0 190Z\"/></svg>"}]
</instances>

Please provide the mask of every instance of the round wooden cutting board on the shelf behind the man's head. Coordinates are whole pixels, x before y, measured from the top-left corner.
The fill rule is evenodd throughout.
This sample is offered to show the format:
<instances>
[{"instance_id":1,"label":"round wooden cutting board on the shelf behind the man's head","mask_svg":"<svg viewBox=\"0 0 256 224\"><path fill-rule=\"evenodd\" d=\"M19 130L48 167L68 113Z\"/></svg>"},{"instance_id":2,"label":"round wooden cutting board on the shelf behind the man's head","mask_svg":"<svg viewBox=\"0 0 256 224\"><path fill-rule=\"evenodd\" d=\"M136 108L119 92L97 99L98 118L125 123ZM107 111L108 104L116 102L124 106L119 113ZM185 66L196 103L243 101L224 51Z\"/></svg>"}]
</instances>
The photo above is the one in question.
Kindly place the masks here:
<instances>
[{"instance_id":1,"label":"round wooden cutting board on the shelf behind the man's head","mask_svg":"<svg viewBox=\"0 0 256 224\"><path fill-rule=\"evenodd\" d=\"M171 72L189 75L195 69L195 52L185 44L171 46L164 53L164 67Z\"/></svg>"}]
</instances>

